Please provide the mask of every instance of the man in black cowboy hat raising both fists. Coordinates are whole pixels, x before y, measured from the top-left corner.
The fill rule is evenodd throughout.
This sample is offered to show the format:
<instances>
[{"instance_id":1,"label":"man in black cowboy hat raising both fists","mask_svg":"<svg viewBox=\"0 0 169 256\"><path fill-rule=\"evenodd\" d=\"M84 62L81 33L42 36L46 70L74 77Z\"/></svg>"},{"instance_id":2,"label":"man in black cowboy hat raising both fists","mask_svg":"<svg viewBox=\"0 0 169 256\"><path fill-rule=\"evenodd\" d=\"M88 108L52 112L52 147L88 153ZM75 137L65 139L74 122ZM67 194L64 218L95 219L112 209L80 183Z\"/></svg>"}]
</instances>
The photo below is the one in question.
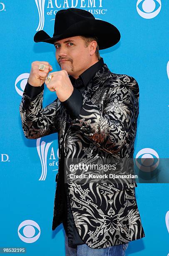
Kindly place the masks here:
<instances>
[{"instance_id":1,"label":"man in black cowboy hat raising both fists","mask_svg":"<svg viewBox=\"0 0 169 256\"><path fill-rule=\"evenodd\" d=\"M133 77L112 73L98 51L119 40L116 27L78 8L57 12L52 38L45 31L34 36L35 42L55 45L61 71L51 72L47 61L32 63L20 115L26 138L58 133L52 230L63 223L66 255L124 255L129 241L145 236L133 180L65 182L69 159L104 163L133 157L139 86ZM46 108L44 83L57 94Z\"/></svg>"}]
</instances>

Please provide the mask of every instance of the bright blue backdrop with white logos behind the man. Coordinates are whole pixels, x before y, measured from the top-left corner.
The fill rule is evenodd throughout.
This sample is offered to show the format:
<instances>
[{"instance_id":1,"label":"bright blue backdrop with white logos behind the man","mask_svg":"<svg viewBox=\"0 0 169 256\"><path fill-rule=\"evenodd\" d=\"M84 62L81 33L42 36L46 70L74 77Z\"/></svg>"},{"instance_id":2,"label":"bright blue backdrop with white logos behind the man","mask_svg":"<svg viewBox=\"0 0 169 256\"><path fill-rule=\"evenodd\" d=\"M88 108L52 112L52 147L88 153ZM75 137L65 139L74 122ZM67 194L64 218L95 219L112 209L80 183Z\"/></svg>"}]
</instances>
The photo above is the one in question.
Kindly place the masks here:
<instances>
[{"instance_id":1,"label":"bright blue backdrop with white logos behind the man","mask_svg":"<svg viewBox=\"0 0 169 256\"><path fill-rule=\"evenodd\" d=\"M0 3L0 247L27 248L27 256L65 255L64 231L52 231L57 133L24 137L19 105L32 61L60 67L52 44L55 14L77 7L117 26L121 40L100 55L109 69L133 76L140 90L135 154L169 158L169 2L160 0L29 0ZM111 35L109 35L111 36ZM106 38L105 38L106 40ZM168 71L167 71L168 69ZM168 74L168 75L167 75ZM43 106L56 98L45 86ZM142 150L142 151L141 151ZM132 241L127 255L169 255L169 186L137 183L136 197L145 237Z\"/></svg>"}]
</instances>

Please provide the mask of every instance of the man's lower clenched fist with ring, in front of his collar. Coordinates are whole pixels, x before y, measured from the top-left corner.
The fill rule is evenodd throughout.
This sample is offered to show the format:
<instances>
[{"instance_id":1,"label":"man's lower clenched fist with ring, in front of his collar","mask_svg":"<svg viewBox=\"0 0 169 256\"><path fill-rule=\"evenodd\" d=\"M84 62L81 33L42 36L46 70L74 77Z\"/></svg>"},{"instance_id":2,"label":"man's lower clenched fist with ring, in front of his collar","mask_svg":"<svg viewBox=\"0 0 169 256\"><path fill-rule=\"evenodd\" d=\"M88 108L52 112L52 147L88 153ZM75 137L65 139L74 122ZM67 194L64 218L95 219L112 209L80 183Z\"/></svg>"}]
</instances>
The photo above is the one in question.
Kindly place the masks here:
<instances>
[{"instance_id":1,"label":"man's lower clenched fist with ring, in front of his collar","mask_svg":"<svg viewBox=\"0 0 169 256\"><path fill-rule=\"evenodd\" d=\"M52 82L45 79L45 84L51 92L56 92L58 99L63 102L67 100L73 92L73 85L66 70L51 72Z\"/></svg>"}]
</instances>

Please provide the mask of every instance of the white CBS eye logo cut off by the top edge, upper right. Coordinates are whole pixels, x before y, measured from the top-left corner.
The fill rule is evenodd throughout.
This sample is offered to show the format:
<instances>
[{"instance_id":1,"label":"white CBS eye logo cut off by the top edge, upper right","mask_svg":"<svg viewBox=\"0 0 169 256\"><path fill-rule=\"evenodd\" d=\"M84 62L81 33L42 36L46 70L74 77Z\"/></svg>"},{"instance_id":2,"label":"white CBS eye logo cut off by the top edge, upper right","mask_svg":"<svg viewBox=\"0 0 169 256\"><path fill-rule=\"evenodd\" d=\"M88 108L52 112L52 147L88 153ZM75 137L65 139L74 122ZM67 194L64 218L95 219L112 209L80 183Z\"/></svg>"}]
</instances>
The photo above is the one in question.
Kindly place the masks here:
<instances>
[{"instance_id":1,"label":"white CBS eye logo cut off by the top edge, upper right","mask_svg":"<svg viewBox=\"0 0 169 256\"><path fill-rule=\"evenodd\" d=\"M161 0L138 0L137 12L142 18L152 19L156 17L161 10Z\"/></svg>"}]
</instances>

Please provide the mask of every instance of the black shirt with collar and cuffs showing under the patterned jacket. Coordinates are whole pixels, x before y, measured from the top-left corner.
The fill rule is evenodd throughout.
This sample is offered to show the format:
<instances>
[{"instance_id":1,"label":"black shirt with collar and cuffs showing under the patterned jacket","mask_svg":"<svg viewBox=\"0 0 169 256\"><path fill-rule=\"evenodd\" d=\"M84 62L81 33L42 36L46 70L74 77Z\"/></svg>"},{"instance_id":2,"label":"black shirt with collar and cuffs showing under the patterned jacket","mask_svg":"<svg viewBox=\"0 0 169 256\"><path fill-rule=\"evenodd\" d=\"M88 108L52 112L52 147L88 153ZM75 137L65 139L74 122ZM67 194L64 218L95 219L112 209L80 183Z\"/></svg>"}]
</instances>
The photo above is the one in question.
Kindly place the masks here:
<instances>
[{"instance_id":1,"label":"black shirt with collar and cuffs showing under the patterned jacket","mask_svg":"<svg viewBox=\"0 0 169 256\"><path fill-rule=\"evenodd\" d=\"M74 90L72 92L72 95L67 100L62 102L62 104L67 109L71 118L75 119L79 116L80 110L82 108L82 93L84 92L85 88L87 87L92 77L94 77L96 72L99 69L101 69L103 65L104 65L104 60L101 57L99 61L97 61L94 65L92 65L91 67L86 69L82 74L80 74L80 76L77 79L69 75L69 78L74 87ZM33 100L43 89L44 89L44 83L42 84L42 86L34 87L27 82L25 87L25 93ZM64 159L62 160L64 162ZM73 220L69 195L67 191L67 184L64 184L64 187L65 187L65 206L64 206L65 216L63 220L63 227L65 229L65 233L68 236L68 245L70 247L77 248L77 245L84 244L84 242L80 238Z\"/></svg>"}]
</instances>

